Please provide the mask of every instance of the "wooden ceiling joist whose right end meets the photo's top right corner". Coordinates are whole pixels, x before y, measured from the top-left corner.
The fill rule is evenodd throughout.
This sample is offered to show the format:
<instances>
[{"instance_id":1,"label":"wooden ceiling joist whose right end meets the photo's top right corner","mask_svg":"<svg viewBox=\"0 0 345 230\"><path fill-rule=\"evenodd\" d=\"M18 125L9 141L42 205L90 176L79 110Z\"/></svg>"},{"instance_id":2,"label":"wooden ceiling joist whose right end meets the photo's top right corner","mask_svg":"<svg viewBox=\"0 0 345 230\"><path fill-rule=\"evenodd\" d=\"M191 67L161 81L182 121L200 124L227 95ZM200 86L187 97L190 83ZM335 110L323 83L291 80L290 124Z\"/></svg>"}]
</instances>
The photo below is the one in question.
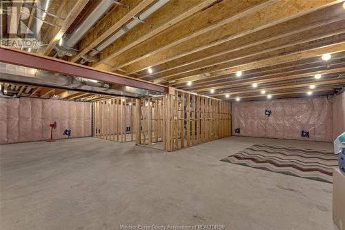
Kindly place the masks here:
<instances>
[{"instance_id":1,"label":"wooden ceiling joist whose right end meets the photo's top right corner","mask_svg":"<svg viewBox=\"0 0 345 230\"><path fill-rule=\"evenodd\" d=\"M141 70L138 77L139 79L152 79L152 77L161 77L163 75L169 75L164 72L169 72L172 70L179 69L184 66L189 66L198 61L204 61L213 57L218 57L224 55L228 52L234 52L237 50L242 50L244 48L250 48L252 46L257 46L259 44L265 44L270 41L275 41L276 39L286 39L286 37L302 37L299 35L301 32L307 30L313 30L314 28L319 28L322 26L329 26L332 23L341 21L345 19L343 10L338 9L339 6L331 6L322 10L317 10L311 14L298 17L297 19L292 19L284 23L279 23L279 25L271 26L264 30L259 30L251 35L239 37L233 39L223 44L213 46L206 50L192 53L184 57L174 59L172 61L164 60L164 64L159 64L154 66L155 73L146 73L145 70ZM322 31L322 30L319 30ZM322 35L322 34L321 34ZM136 70L135 70L136 71ZM128 73L130 75L131 73Z\"/></svg>"}]
</instances>

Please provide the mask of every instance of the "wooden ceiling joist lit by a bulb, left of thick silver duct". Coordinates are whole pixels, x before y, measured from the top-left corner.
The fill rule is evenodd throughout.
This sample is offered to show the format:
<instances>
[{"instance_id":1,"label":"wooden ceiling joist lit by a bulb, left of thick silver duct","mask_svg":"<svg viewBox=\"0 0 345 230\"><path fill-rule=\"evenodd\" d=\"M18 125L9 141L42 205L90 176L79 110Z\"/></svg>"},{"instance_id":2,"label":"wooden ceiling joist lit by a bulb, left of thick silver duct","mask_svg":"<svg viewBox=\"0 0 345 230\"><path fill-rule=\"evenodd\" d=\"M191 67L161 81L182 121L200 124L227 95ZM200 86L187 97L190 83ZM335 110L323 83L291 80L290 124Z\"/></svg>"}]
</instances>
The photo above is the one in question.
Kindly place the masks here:
<instances>
[{"instance_id":1,"label":"wooden ceiling joist lit by a bulb, left of thick silver duct","mask_svg":"<svg viewBox=\"0 0 345 230\"><path fill-rule=\"evenodd\" d=\"M46 48L41 48L38 53L40 55L49 55L50 51L59 42L61 37L66 33L70 25L78 17L79 13L88 3L88 0L66 0L58 10L59 17L65 19L61 21L58 19L56 22L59 26L52 27L50 31L47 32L48 35L48 46Z\"/></svg>"}]
</instances>

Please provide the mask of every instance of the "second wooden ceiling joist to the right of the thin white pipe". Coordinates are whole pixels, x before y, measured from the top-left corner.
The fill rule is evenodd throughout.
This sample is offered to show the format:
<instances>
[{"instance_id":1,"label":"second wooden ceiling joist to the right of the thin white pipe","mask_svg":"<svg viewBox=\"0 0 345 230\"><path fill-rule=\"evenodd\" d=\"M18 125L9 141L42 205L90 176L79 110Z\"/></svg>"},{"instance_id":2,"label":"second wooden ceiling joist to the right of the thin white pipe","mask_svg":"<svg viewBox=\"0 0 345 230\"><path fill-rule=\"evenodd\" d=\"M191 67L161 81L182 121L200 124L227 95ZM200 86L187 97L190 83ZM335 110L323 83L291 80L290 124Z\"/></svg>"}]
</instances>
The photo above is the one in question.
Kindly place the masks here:
<instances>
[{"instance_id":1,"label":"second wooden ceiling joist to the right of the thin white pipe","mask_svg":"<svg viewBox=\"0 0 345 230\"><path fill-rule=\"evenodd\" d=\"M115 66L115 68L128 66L145 57L154 55L161 50L175 47L177 44L181 44L181 42L187 41L188 39L215 30L220 26L224 26L226 23L233 22L245 15L250 15L250 13L257 12L275 2L277 0L220 1L214 6L188 17L184 20L184 23L172 26L152 39L148 39L139 44L139 46L127 50L121 56L108 61L108 64Z\"/></svg>"}]
</instances>

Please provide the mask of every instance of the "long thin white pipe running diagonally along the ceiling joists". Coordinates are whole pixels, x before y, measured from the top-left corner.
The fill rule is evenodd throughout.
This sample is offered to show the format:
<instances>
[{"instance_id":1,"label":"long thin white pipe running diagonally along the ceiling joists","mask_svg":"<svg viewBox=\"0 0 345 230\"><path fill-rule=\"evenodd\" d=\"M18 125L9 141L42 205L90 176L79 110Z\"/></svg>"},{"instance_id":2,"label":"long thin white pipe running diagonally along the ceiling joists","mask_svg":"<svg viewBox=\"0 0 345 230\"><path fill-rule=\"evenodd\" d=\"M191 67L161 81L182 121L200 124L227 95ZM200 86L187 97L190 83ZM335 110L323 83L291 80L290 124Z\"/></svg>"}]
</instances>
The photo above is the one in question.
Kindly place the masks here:
<instances>
[{"instance_id":1,"label":"long thin white pipe running diagonally along the ceiling joists","mask_svg":"<svg viewBox=\"0 0 345 230\"><path fill-rule=\"evenodd\" d=\"M144 20L147 17L149 17L150 15L152 15L153 12L155 12L156 10L158 10L159 8L161 8L162 6L164 6L166 3L168 3L169 0L159 0L157 1L157 3L153 4L150 8L148 8L147 10L145 10L144 12L141 13L141 15L139 15L139 19L140 20ZM121 37L122 35L126 34L126 32L130 29L132 29L133 27L137 26L138 23L140 23L141 21L139 21L138 19L133 19L132 21L130 21L130 23L126 24L125 26L123 26L121 28L121 30L119 30L118 32L116 32L114 35L112 35L109 39L107 39L106 41L104 41L101 45L97 46L97 48L95 48L95 50L92 50L89 54L89 56L93 57L95 55L97 55L101 50L103 50L104 48L106 48L107 46L109 46L110 44L112 44L112 42L114 42L115 40L119 39L119 37ZM85 62L84 62L85 63Z\"/></svg>"}]
</instances>

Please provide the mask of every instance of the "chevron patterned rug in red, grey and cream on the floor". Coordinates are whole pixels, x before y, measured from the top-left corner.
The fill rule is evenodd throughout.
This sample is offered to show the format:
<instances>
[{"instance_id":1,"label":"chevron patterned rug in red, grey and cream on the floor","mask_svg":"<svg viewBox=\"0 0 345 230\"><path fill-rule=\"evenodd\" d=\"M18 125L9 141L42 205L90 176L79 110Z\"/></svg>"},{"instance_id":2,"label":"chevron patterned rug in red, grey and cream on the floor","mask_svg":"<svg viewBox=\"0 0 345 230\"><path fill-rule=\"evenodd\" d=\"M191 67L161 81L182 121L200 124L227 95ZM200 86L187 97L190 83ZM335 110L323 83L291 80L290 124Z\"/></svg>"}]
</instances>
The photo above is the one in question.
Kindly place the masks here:
<instances>
[{"instance_id":1,"label":"chevron patterned rug in red, grey and cream on the floor","mask_svg":"<svg viewBox=\"0 0 345 230\"><path fill-rule=\"evenodd\" d=\"M255 144L221 161L328 183L338 165L332 151L268 144Z\"/></svg>"}]
</instances>

